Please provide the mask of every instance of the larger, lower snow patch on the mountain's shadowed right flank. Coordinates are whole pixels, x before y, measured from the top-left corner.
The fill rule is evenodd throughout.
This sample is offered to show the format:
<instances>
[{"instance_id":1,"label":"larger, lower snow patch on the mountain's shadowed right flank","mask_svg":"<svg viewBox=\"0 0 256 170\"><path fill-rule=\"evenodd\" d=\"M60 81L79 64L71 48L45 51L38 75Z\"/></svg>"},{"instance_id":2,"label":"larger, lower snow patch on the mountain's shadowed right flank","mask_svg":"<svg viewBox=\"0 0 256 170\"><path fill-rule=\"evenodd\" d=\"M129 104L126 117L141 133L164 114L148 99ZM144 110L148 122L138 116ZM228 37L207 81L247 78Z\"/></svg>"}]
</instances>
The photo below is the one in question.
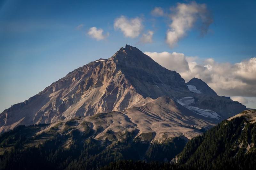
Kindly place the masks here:
<instances>
[{"instance_id":1,"label":"larger, lower snow patch on the mountain's shadowed right flank","mask_svg":"<svg viewBox=\"0 0 256 170\"><path fill-rule=\"evenodd\" d=\"M220 115L212 110L200 109L195 106L189 106L190 104L195 103L195 100L193 97L183 97L180 100L177 100L177 102L179 104L181 104L182 106L188 108L189 110L195 112L198 115L201 115L204 117L210 117L210 118L214 118L214 119L218 119L218 120L220 119Z\"/></svg>"}]
</instances>

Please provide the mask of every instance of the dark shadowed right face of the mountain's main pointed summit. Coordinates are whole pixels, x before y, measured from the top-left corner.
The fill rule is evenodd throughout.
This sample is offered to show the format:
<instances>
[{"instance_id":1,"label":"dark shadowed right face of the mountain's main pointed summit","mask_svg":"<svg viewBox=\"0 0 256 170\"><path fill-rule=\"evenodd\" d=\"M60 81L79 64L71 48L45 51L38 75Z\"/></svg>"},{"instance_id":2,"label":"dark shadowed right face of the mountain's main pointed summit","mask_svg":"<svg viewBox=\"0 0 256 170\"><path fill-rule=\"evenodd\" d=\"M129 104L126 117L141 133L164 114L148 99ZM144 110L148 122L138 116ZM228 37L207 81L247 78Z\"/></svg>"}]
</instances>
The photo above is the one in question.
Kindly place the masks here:
<instances>
[{"instance_id":1,"label":"dark shadowed right face of the mountain's main pointed summit","mask_svg":"<svg viewBox=\"0 0 256 170\"><path fill-rule=\"evenodd\" d=\"M120 48L111 60L143 97L156 99L166 93L170 94L171 91L166 89L187 90L185 80L179 73L162 67L136 47L126 45Z\"/></svg>"}]
</instances>

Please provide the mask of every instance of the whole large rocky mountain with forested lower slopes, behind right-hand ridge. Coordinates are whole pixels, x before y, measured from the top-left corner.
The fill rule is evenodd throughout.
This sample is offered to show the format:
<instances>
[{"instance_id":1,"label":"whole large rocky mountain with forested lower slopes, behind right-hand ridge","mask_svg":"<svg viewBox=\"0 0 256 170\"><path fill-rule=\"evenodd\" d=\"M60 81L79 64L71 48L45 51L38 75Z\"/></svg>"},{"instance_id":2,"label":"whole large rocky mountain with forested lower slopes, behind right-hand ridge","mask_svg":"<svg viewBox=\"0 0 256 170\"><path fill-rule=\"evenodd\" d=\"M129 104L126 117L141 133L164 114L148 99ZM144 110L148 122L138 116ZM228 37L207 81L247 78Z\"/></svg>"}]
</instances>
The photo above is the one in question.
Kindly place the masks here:
<instances>
[{"instance_id":1,"label":"whole large rocky mountain with forested lower slopes, behind right-hand ridge","mask_svg":"<svg viewBox=\"0 0 256 170\"><path fill-rule=\"evenodd\" d=\"M202 145L203 149L216 149L216 141L228 142L237 128L232 127L234 123L229 127L229 122L240 117L217 124L245 109L218 96L200 79L185 83L176 71L126 45L110 58L88 63L4 110L0 169L108 169L109 163L119 160L177 160L178 167L186 168L198 146L193 141L201 144L210 133L215 138L207 142L212 145ZM253 114L246 114L238 127L254 120ZM228 124L225 131L231 136L223 128L212 133L221 124ZM245 147L242 144L246 143L240 141L238 146Z\"/></svg>"}]
</instances>

